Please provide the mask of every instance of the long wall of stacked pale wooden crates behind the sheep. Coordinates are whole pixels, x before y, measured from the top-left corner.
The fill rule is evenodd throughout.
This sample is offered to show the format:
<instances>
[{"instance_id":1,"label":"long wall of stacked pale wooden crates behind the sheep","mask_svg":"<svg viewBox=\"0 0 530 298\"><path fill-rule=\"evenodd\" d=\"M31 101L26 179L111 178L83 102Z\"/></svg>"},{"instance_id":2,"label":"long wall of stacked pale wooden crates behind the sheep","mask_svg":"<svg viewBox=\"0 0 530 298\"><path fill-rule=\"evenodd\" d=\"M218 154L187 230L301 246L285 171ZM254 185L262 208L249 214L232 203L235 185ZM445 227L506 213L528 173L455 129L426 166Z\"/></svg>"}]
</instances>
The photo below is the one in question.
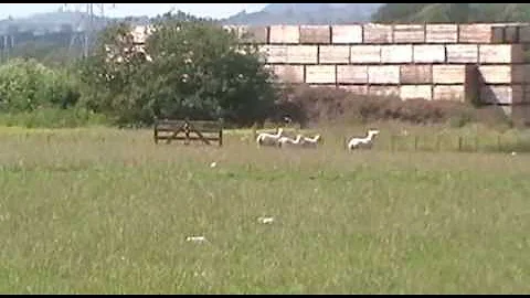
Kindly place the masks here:
<instances>
[{"instance_id":1,"label":"long wall of stacked pale wooden crates behind the sheep","mask_svg":"<svg viewBox=\"0 0 530 298\"><path fill-rule=\"evenodd\" d=\"M530 23L225 28L258 43L280 82L402 99L530 104Z\"/></svg>"}]
</instances>

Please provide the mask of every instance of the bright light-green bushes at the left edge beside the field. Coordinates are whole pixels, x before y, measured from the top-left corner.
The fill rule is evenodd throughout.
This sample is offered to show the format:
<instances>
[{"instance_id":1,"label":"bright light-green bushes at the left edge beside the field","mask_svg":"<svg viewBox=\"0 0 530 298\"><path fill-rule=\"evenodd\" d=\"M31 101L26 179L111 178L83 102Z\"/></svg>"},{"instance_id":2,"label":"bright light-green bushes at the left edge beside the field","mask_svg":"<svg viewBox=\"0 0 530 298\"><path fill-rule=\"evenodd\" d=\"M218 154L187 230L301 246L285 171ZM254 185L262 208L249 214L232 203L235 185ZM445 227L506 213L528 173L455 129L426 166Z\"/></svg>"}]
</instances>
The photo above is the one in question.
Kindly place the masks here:
<instances>
[{"instance_id":1,"label":"bright light-green bushes at the left edge beside the field","mask_svg":"<svg viewBox=\"0 0 530 298\"><path fill-rule=\"evenodd\" d=\"M104 124L102 115L78 107L78 85L67 68L35 60L0 65L0 125L64 128Z\"/></svg>"}]
</instances>

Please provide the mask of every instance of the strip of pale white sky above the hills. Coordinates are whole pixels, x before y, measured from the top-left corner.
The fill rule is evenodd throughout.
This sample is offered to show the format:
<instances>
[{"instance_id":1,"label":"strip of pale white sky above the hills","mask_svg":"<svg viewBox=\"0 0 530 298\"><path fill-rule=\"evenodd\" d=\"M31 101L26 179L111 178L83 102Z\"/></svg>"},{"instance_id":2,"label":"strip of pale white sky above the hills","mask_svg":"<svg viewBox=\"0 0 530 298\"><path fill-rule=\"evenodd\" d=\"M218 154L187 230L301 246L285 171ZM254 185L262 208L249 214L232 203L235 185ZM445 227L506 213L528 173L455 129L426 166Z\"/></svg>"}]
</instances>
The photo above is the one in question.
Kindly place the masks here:
<instances>
[{"instance_id":1,"label":"strip of pale white sky above the hills","mask_svg":"<svg viewBox=\"0 0 530 298\"><path fill-rule=\"evenodd\" d=\"M33 13L56 11L62 6L64 6L64 3L0 3L0 19L7 19L9 15L13 18L23 18ZM86 11L86 4L68 3L66 6L71 10L80 9ZM242 10L246 10L247 12L257 11L265 6L265 3L116 3L113 8L112 3L105 3L105 14L108 17L146 14L153 17L156 14L168 12L174 8L174 10L182 10L198 17L226 18ZM99 12L99 9L95 9L95 12Z\"/></svg>"}]
</instances>

